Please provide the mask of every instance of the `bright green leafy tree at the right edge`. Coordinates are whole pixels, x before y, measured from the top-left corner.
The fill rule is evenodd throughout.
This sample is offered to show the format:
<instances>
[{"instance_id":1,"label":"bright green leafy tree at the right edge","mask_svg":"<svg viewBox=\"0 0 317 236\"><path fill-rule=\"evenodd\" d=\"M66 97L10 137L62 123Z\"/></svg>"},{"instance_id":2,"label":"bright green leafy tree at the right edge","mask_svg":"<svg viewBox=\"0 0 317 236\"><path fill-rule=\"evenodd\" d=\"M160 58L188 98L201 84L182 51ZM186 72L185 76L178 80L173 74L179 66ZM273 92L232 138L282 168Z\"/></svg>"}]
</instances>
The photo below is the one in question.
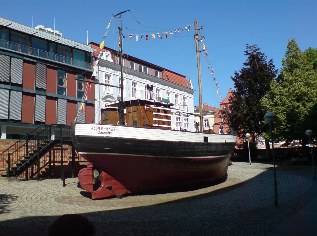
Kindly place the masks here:
<instances>
[{"instance_id":1,"label":"bright green leafy tree at the right edge","mask_svg":"<svg viewBox=\"0 0 317 236\"><path fill-rule=\"evenodd\" d=\"M276 134L280 138L302 140L306 129L317 131L317 50L302 52L292 39L282 65L262 105L278 116Z\"/></svg>"}]
</instances>

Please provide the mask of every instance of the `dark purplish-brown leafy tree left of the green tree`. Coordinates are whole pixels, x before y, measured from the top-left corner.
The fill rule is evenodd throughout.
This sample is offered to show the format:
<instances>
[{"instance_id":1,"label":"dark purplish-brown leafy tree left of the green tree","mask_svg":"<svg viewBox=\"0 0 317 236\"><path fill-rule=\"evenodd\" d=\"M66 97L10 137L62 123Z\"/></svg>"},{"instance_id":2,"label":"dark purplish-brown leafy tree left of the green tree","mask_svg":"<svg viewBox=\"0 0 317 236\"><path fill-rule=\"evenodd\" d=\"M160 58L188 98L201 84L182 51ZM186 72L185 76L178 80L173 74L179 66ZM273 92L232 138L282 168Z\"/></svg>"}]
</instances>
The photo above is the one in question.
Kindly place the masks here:
<instances>
[{"instance_id":1,"label":"dark purplish-brown leafy tree left of the green tree","mask_svg":"<svg viewBox=\"0 0 317 236\"><path fill-rule=\"evenodd\" d=\"M270 89L277 70L272 59L267 62L266 56L256 45L246 45L244 55L247 60L243 68L231 77L234 92L229 99L228 112L223 116L238 135L247 132L259 134L265 128L262 122L265 109L260 101Z\"/></svg>"}]
</instances>

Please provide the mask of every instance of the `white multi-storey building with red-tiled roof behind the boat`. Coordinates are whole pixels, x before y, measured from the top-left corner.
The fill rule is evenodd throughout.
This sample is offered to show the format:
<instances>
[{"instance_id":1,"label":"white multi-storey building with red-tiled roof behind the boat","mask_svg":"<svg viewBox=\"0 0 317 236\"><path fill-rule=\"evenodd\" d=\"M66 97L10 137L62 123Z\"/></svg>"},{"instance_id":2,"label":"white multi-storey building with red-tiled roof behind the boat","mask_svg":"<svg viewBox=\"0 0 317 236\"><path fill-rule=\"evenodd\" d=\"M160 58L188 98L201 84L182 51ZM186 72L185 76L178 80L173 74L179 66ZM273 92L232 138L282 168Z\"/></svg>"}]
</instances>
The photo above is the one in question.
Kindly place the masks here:
<instances>
[{"instance_id":1,"label":"white multi-storey building with red-tiled roof behind the boat","mask_svg":"<svg viewBox=\"0 0 317 236\"><path fill-rule=\"evenodd\" d=\"M95 52L94 73L99 84L95 86L95 122L101 120L101 110L120 101L120 57L110 48L100 49L92 43ZM147 100L172 103L172 130L195 131L194 90L185 76L143 61L123 55L123 100Z\"/></svg>"}]
</instances>

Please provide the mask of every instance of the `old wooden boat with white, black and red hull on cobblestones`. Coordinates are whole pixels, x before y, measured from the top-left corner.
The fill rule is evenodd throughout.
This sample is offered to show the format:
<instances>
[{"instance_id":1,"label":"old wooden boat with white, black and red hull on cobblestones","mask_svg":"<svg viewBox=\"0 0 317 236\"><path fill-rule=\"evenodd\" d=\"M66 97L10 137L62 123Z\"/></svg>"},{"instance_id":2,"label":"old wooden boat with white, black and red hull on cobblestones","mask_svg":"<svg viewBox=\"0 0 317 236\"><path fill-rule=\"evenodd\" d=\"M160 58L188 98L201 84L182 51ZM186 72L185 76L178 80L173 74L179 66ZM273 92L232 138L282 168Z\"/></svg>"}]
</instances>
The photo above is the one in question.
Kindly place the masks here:
<instances>
[{"instance_id":1,"label":"old wooden boat with white, black and red hull on cobblestones","mask_svg":"<svg viewBox=\"0 0 317 236\"><path fill-rule=\"evenodd\" d=\"M102 110L100 124L73 124L74 147L90 163L80 170L79 184L92 199L188 190L226 180L236 137L171 130L172 105L123 101L121 96Z\"/></svg>"}]
</instances>

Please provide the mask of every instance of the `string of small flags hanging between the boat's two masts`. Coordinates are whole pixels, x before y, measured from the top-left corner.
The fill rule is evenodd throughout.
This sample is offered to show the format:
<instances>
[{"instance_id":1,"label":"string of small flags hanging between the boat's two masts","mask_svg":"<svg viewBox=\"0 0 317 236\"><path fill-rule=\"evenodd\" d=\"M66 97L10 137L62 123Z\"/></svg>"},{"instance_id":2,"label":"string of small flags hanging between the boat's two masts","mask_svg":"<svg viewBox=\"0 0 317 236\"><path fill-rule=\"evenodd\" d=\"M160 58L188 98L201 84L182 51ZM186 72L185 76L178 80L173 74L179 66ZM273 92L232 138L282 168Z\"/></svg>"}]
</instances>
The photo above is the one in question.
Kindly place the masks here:
<instances>
[{"instance_id":1,"label":"string of small flags hanging between the boat's two masts","mask_svg":"<svg viewBox=\"0 0 317 236\"><path fill-rule=\"evenodd\" d=\"M181 32L189 32L191 29L191 25L186 25L185 27L178 27L175 30L167 30L167 31L163 31L163 32L153 32L153 33L148 33L148 34L141 34L141 33L137 33L137 34L132 34L129 33L129 39L135 39L135 41L141 41L141 40L150 40L150 39L167 39L168 37L172 37L172 36L177 36L179 35Z\"/></svg>"}]
</instances>

